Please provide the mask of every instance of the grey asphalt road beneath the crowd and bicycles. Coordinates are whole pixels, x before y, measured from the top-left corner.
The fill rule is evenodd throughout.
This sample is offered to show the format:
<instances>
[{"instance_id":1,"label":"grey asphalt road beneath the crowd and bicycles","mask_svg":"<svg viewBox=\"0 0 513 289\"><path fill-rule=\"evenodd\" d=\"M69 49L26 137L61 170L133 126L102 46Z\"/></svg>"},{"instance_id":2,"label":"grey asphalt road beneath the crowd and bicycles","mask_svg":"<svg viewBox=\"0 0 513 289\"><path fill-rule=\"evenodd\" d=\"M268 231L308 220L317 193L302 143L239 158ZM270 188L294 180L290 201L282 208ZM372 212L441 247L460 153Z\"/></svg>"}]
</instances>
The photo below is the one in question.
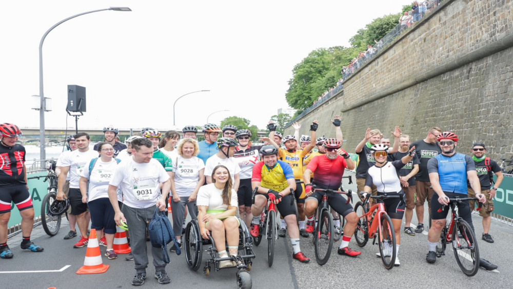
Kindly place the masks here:
<instances>
[{"instance_id":1,"label":"grey asphalt road beneath the crowd and bicycles","mask_svg":"<svg viewBox=\"0 0 513 289\"><path fill-rule=\"evenodd\" d=\"M344 183L347 179L344 179ZM356 184L344 187L356 189ZM427 209L426 209L427 212ZM415 215L415 214L414 214ZM427 220L427 217L426 217ZM416 223L413 217L413 223ZM473 215L476 227L476 235L481 236L481 218ZM36 227L32 234L32 240L45 248L42 253L33 253L19 248L15 239L10 240L11 251L14 258L10 260L0 259L0 287L10 288L131 288L131 279L135 273L133 261L125 261L126 255L119 255L116 260L108 260L103 257L104 264L110 268L104 274L76 275L76 271L83 265L86 247L75 249L72 245L78 238L63 240L68 232L68 226L64 225L61 232L55 237L49 237L42 232L41 227ZM426 232L427 233L427 232ZM513 248L508 245L513 240L513 229L502 223L493 221L490 234L494 236L495 243L479 242L480 255L499 266L497 272L487 272L480 269L475 277L465 276L453 256L450 248L447 255L439 258L435 264L425 261L427 254L427 236L417 234L408 236L402 233L402 244L399 258L401 266L390 270L385 269L381 259L376 257L378 246L369 243L360 248L351 240L350 247L361 251L357 258L337 255L340 241L333 246L333 252L329 261L320 266L315 262L315 255L311 238L301 238L301 248L307 257L311 259L308 264L299 263L291 259L291 245L288 238L280 238L275 245L274 264L271 268L267 265L267 244L262 242L260 246L253 246L257 258L254 259L250 272L253 288L405 288L415 286L416 289L442 287L450 284L455 288L511 288L513 284ZM478 237L479 238L479 237ZM15 242L15 243L13 243ZM148 242L148 248L150 244ZM105 253L105 247L101 247ZM170 253L171 263L166 270L171 277L169 285L179 288L237 288L235 281L236 269L223 269L219 272L211 272L209 277L203 275L203 265L198 272L193 272L185 261L185 253L176 256ZM203 263L207 254L203 254ZM148 279L144 288L161 288L153 278L154 268L150 254L150 266L147 269ZM4 273L19 271L58 271L68 266L62 272L25 272Z\"/></svg>"}]
</instances>

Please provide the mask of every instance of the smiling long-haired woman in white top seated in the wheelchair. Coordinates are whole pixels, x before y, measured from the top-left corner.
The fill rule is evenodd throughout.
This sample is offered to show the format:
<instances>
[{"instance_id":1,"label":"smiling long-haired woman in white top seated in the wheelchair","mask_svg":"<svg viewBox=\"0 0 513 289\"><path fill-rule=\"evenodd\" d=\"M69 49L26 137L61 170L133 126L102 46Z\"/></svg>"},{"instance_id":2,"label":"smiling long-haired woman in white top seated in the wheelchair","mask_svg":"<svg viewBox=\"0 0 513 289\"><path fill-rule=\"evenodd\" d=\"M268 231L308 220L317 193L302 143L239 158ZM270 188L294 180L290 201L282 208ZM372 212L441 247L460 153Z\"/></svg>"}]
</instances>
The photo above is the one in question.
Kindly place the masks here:
<instances>
[{"instance_id":1,"label":"smiling long-haired woman in white top seated in the wheelchair","mask_svg":"<svg viewBox=\"0 0 513 289\"><path fill-rule=\"evenodd\" d=\"M239 251L239 219L237 192L233 189L230 172L223 165L212 171L212 183L202 186L196 199L198 223L201 236L208 240L212 236L219 258L227 258L226 243L230 256ZM211 232L211 233L210 233ZM225 238L226 234L226 238ZM221 261L220 268L234 267L235 261Z\"/></svg>"}]
</instances>

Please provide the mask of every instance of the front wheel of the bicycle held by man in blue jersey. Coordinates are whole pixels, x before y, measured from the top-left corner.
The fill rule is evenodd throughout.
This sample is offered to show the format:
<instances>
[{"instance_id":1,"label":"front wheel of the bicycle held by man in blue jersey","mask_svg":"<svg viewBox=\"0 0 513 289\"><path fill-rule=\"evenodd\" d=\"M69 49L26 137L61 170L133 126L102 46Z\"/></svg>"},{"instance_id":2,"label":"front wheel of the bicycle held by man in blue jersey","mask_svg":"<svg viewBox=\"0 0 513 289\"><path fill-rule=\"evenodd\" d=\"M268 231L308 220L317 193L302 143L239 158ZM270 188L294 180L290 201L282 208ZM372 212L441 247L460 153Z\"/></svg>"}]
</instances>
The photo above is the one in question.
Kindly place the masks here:
<instances>
[{"instance_id":1,"label":"front wheel of the bicycle held by man in blue jersey","mask_svg":"<svg viewBox=\"0 0 513 289\"><path fill-rule=\"evenodd\" d=\"M458 237L461 234L463 238ZM467 276L474 276L479 270L479 248L476 235L470 225L463 219L456 221L452 229L452 251L461 271Z\"/></svg>"}]
</instances>

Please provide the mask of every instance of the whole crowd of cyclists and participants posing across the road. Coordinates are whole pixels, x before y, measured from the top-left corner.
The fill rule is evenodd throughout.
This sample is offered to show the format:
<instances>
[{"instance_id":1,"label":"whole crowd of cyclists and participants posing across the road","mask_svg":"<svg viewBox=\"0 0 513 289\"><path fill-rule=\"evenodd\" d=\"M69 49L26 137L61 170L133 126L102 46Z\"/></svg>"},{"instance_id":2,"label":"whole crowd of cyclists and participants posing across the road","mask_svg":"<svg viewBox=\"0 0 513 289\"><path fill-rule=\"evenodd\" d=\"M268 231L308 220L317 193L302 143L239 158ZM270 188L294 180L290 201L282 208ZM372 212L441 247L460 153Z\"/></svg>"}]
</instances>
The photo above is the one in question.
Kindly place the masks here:
<instances>
[{"instance_id":1,"label":"whole crowd of cyclists and participants posing across the road","mask_svg":"<svg viewBox=\"0 0 513 289\"><path fill-rule=\"evenodd\" d=\"M319 123L310 124L310 136L299 138L301 125L294 123L295 134L283 136L277 126L269 122L269 137L260 138L264 145L253 145L251 131L215 124L203 127L204 141L196 141L198 129L185 126L180 132L162 133L146 127L140 135L132 136L125 144L117 142L119 133L114 126L103 129L105 141L89 148L87 133L77 133L67 139L69 150L57 162L57 201L70 206L70 232L65 239L81 238L73 245L80 248L89 241L88 228L97 230L101 245L107 247L105 256L116 259L112 247L116 225L128 225L132 253L126 260L134 260L136 274L132 285L142 285L146 279L148 256L147 229L155 206L167 212L171 202L173 230L177 243L170 251L182 246L182 234L187 214L197 218L203 238L212 237L220 258L238 254L239 218L250 227L254 238L260 235L260 216L268 202L276 204L281 216L280 237L288 233L293 248L293 258L307 263L302 253L300 237L308 238L314 231L315 210L322 195L315 189L338 190L345 169L356 169L359 192L372 195L404 195L400 199L385 200L387 214L396 230L397 252L401 243L400 228L406 215L404 232L415 236L410 226L413 209L419 224L416 233L424 230L424 202L428 201L432 223L428 233L429 252L426 260L436 261L435 247L445 225L447 197L475 196L486 202L488 209L481 211L484 234L482 239L493 242L489 235L490 215L503 176L499 166L485 156L483 143L472 146L472 157L455 152L459 138L455 133L442 132L432 127L424 140L410 143L399 127L390 140L378 129L367 129L365 138L356 147L359 156L355 163L342 149L341 118L332 120L336 138L317 138ZM42 252L43 248L30 241L34 209L27 187L25 149L16 144L21 130L13 124L0 125L0 257L12 258L7 246L7 223L11 202L22 215L22 249ZM220 133L223 133L220 137ZM300 142L298 142L298 139ZM312 151L317 147L317 151ZM477 169L477 172L476 172ZM498 176L494 187L491 174ZM468 180L462 181L462 180ZM258 188L258 189L257 189ZM254 194L253 194L253 191ZM291 195L291 191L293 195ZM432 198L436 192L435 198ZM170 198L168 198L170 196ZM297 201L297 206L293 200ZM333 194L329 205L336 219L337 232L343 232L338 254L357 257L361 252L349 248L359 216L346 198ZM463 202L460 216L471 226L470 212L475 204ZM198 214L196 215L196 207ZM299 220L298 220L299 216ZM76 225L75 225L76 223ZM473 228L473 227L472 227ZM225 244L228 244L228 248ZM155 278L159 283L169 283L166 263L159 248L151 249ZM378 254L379 255L379 254ZM235 259L233 259L235 260ZM481 266L495 269L496 265L481 259ZM396 264L400 265L399 258ZM221 261L220 267L236 266L236 261Z\"/></svg>"}]
</instances>

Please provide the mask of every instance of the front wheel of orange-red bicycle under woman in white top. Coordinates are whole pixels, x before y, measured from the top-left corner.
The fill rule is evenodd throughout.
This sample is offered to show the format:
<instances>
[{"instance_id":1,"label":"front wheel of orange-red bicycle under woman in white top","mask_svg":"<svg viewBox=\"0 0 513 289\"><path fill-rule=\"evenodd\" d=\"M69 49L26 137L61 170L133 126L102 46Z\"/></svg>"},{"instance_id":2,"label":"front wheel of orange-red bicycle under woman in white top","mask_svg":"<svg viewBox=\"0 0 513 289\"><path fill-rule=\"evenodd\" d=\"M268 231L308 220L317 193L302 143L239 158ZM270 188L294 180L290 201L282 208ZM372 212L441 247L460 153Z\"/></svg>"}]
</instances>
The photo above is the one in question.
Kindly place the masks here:
<instances>
[{"instance_id":1,"label":"front wheel of orange-red bicycle under woman in white top","mask_svg":"<svg viewBox=\"0 0 513 289\"><path fill-rule=\"evenodd\" d=\"M396 233L393 230L392 220L387 214L381 215L379 235L381 261L387 269L391 269L396 263Z\"/></svg>"}]
</instances>

